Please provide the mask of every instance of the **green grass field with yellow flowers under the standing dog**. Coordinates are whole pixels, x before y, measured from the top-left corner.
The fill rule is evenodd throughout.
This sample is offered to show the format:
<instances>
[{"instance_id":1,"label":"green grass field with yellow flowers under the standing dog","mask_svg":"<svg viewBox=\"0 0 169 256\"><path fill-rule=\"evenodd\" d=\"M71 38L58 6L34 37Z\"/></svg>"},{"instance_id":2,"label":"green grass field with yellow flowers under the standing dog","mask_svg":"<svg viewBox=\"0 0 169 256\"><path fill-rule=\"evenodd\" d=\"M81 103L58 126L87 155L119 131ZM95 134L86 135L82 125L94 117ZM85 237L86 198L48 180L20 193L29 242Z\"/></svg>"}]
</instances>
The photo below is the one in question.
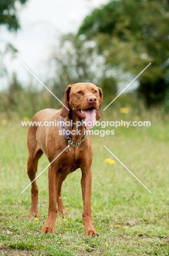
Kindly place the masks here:
<instances>
[{"instance_id":1,"label":"green grass field with yellow flowers under the standing dog","mask_svg":"<svg viewBox=\"0 0 169 256\"><path fill-rule=\"evenodd\" d=\"M132 114L102 120L134 120ZM107 112L108 113L108 112ZM118 118L117 118L118 117ZM28 218L31 189L27 176L27 127L0 119L0 255L169 255L169 123L155 113L150 127L106 127L113 136L93 136L92 214L98 237L87 237L82 222L81 171L63 184L69 217L57 217L56 234L43 235L47 217L47 170L37 179L39 220ZM96 128L95 128L96 129ZM107 152L105 145L152 191L150 194ZM110 158L115 162L105 162ZM38 173L48 164L39 161Z\"/></svg>"}]
</instances>

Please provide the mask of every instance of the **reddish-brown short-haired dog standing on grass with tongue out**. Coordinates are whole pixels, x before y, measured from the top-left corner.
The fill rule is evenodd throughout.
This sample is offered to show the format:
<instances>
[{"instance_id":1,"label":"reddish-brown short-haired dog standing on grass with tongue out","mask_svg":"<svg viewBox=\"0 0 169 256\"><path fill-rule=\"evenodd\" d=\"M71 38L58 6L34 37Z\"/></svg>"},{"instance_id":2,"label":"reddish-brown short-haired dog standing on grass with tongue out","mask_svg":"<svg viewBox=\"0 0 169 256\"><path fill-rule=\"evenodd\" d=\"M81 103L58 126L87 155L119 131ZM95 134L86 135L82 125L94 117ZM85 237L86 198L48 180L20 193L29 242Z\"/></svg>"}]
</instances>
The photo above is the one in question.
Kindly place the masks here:
<instances>
[{"instance_id":1,"label":"reddish-brown short-haired dog standing on grass with tongue out","mask_svg":"<svg viewBox=\"0 0 169 256\"><path fill-rule=\"evenodd\" d=\"M82 216L85 224L85 233L89 236L98 235L92 224L90 208L92 142L89 135L85 135L86 138L84 138L86 127L87 129L89 128L88 125L79 126L80 123L77 122L86 120L91 123L93 120L98 120L100 118L99 108L101 104L102 91L100 88L92 83L77 83L69 85L65 90L64 106L61 110L40 110L32 119L32 121L41 121L41 124L45 124L43 123L45 121L62 120L62 126L31 126L28 130L29 158L27 170L31 182L35 179L38 160L43 153L50 162L56 159L60 154L49 167L49 213L43 228L43 233L45 234L55 232L55 220L58 211L61 214L67 214L61 196L62 183L69 173L74 172L77 168L81 168L83 197ZM61 119L61 117L63 119ZM70 120L73 120L71 124ZM70 134L69 138L66 138L63 132L63 130L65 131L64 124L66 124L67 121L69 121L69 123L67 123L66 130L74 131ZM69 145L68 141L73 144L70 143ZM80 145L78 142L81 142L79 143ZM38 216L38 188L35 181L32 183L31 192L32 205L29 216L32 214Z\"/></svg>"}]
</instances>

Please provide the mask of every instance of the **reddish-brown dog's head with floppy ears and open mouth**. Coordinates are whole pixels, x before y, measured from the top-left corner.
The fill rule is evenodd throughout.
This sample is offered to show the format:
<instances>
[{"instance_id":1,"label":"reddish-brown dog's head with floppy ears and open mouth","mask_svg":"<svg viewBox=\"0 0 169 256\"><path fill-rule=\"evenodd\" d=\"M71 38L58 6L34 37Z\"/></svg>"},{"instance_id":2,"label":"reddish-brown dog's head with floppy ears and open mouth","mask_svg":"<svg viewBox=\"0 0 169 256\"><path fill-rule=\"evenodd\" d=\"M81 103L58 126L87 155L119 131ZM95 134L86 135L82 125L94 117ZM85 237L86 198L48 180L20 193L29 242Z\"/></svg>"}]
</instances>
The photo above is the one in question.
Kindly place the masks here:
<instances>
[{"instance_id":1,"label":"reddish-brown dog's head with floppy ears and open mouth","mask_svg":"<svg viewBox=\"0 0 169 256\"><path fill-rule=\"evenodd\" d=\"M102 90L96 85L92 83L69 85L64 93L64 106L61 109L61 117L68 117L68 109L71 109L83 120L99 120L101 104Z\"/></svg>"}]
</instances>

